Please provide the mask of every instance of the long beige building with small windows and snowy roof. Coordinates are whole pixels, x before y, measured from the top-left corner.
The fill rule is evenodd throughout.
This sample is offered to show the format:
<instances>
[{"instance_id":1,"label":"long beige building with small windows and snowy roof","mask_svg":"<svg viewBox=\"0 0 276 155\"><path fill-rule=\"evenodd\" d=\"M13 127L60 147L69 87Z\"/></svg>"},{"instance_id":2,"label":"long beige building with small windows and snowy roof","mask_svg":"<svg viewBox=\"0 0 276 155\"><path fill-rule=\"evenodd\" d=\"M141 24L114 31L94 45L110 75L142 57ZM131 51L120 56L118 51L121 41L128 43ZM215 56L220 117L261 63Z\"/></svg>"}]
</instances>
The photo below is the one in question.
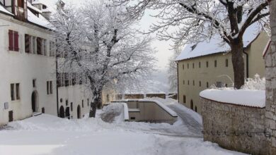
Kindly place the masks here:
<instances>
[{"instance_id":1,"label":"long beige building with small windows and snowy roof","mask_svg":"<svg viewBox=\"0 0 276 155\"><path fill-rule=\"evenodd\" d=\"M265 32L254 34L255 27L249 27L243 37L246 77L255 74L264 76L263 50L268 43ZM186 46L176 59L178 63L178 101L188 108L201 113L199 94L202 90L216 85L232 87L234 70L229 46L219 46L219 39Z\"/></svg>"}]
</instances>

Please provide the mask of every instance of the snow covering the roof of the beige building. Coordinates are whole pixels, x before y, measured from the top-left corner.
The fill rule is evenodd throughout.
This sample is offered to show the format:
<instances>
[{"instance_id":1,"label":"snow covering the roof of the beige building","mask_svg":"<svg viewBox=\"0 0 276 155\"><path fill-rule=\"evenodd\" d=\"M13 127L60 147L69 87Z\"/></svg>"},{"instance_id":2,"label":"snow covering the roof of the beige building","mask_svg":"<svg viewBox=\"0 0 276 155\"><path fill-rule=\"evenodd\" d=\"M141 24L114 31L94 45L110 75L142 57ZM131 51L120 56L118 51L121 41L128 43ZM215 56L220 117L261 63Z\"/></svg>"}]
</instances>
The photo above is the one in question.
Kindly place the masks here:
<instances>
[{"instance_id":1,"label":"snow covering the roof of the beige building","mask_svg":"<svg viewBox=\"0 0 276 155\"><path fill-rule=\"evenodd\" d=\"M258 25L253 24L246 29L243 35L243 47L247 47L253 40L259 35ZM192 46L195 44L188 44L181 51L180 55L176 58L176 61L185 60L188 58L195 58L198 56L207 56L209 54L217 54L230 51L228 44L222 45L222 38L219 35L215 35L209 42L200 42L192 50Z\"/></svg>"}]
</instances>

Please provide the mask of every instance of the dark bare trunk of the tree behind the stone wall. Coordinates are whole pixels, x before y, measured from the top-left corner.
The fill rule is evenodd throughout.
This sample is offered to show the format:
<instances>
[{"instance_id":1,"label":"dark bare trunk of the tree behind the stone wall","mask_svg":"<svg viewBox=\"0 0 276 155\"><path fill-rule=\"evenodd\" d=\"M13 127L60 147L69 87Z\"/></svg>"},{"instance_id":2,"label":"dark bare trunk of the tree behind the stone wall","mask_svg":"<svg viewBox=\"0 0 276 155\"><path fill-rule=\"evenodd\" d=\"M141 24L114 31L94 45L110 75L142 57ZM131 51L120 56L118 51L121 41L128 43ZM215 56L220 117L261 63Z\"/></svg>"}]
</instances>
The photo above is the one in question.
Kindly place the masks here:
<instances>
[{"instance_id":1,"label":"dark bare trunk of the tree behind the stone wall","mask_svg":"<svg viewBox=\"0 0 276 155\"><path fill-rule=\"evenodd\" d=\"M245 80L242 39L234 39L234 42L231 43L231 54L234 69L234 88L241 89Z\"/></svg>"}]
</instances>

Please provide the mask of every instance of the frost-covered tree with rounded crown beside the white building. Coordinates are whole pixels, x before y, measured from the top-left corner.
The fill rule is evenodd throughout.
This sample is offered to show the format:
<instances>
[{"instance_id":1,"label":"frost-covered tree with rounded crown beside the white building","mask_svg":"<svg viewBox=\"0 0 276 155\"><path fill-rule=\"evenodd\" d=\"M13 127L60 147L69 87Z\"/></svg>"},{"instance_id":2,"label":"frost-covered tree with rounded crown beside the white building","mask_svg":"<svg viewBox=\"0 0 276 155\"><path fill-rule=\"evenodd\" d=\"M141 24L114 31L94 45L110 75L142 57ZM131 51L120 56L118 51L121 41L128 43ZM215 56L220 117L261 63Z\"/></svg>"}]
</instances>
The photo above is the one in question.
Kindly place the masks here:
<instances>
[{"instance_id":1,"label":"frost-covered tree with rounded crown beside the white building","mask_svg":"<svg viewBox=\"0 0 276 155\"><path fill-rule=\"evenodd\" d=\"M134 20L109 7L106 1L65 8L54 16L59 66L79 75L93 95L90 117L95 117L103 89L132 85L154 68L151 39L132 29Z\"/></svg>"}]
</instances>

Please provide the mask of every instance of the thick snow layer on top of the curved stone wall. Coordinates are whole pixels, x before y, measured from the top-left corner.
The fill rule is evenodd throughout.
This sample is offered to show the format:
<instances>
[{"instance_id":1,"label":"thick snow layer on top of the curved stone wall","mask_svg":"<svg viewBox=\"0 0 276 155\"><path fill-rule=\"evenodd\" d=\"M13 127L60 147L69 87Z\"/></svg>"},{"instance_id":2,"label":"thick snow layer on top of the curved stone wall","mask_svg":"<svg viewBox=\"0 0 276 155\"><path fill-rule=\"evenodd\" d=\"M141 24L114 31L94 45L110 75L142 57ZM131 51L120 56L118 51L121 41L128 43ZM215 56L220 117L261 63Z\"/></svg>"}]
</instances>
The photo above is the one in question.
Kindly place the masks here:
<instances>
[{"instance_id":1,"label":"thick snow layer on top of the curved stone wall","mask_svg":"<svg viewBox=\"0 0 276 155\"><path fill-rule=\"evenodd\" d=\"M226 104L236 104L257 108L265 107L265 90L249 89L206 89L200 97Z\"/></svg>"}]
</instances>

